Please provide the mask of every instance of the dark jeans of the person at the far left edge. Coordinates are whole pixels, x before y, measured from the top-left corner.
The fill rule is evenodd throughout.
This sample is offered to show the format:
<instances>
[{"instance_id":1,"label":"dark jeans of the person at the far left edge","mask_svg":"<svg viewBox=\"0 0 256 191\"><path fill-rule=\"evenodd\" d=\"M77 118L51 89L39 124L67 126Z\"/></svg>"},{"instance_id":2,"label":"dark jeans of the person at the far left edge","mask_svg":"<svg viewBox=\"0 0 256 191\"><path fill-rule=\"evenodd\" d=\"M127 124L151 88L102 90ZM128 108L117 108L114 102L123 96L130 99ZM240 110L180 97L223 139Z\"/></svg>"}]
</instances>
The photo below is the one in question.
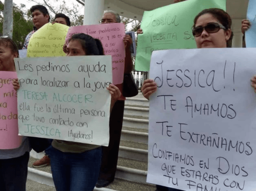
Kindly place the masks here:
<instances>
[{"instance_id":1,"label":"dark jeans of the person at the far left edge","mask_svg":"<svg viewBox=\"0 0 256 191\"><path fill-rule=\"evenodd\" d=\"M25 191L29 153L21 157L0 159L0 190Z\"/></svg>"}]
</instances>

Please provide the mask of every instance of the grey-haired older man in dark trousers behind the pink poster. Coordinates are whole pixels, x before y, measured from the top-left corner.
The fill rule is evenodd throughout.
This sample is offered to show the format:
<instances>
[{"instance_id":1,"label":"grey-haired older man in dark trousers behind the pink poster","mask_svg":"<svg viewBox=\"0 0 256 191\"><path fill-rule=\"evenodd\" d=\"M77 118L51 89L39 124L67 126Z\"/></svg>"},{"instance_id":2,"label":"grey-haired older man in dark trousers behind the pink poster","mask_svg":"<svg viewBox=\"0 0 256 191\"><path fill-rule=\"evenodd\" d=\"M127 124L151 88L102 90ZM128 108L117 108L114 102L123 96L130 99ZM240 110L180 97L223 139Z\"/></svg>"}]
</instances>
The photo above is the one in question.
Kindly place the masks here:
<instances>
[{"instance_id":1,"label":"grey-haired older man in dark trousers behind the pink poster","mask_svg":"<svg viewBox=\"0 0 256 191\"><path fill-rule=\"evenodd\" d=\"M104 11L101 24L120 23L120 16L114 11ZM133 62L131 59L130 45L132 43L131 37L125 35L123 37L125 43L125 74L129 74L133 69ZM116 84L122 92L123 84ZM102 148L102 162L101 171L96 184L96 187L106 187L115 179L116 166L118 162L118 150L123 125L123 111L125 107L125 97L122 95L114 104L109 119L109 146Z\"/></svg>"}]
</instances>

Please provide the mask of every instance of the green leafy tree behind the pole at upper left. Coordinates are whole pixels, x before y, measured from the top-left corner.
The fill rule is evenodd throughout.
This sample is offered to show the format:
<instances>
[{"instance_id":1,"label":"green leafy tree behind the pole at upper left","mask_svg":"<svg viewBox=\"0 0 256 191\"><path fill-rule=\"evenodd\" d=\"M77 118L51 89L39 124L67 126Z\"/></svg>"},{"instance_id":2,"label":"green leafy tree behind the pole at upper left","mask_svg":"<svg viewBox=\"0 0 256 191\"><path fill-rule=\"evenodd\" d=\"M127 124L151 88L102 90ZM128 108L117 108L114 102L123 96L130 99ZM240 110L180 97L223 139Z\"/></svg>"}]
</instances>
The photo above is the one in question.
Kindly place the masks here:
<instances>
[{"instance_id":1,"label":"green leafy tree behind the pole at upper left","mask_svg":"<svg viewBox=\"0 0 256 191\"><path fill-rule=\"evenodd\" d=\"M27 20L26 15L22 11L25 9L25 5L21 4L18 7L13 5L13 41L17 44L19 49L22 49L25 38L29 32L33 29L33 22L31 19ZM0 34L3 34L3 11L4 4L0 1Z\"/></svg>"}]
</instances>

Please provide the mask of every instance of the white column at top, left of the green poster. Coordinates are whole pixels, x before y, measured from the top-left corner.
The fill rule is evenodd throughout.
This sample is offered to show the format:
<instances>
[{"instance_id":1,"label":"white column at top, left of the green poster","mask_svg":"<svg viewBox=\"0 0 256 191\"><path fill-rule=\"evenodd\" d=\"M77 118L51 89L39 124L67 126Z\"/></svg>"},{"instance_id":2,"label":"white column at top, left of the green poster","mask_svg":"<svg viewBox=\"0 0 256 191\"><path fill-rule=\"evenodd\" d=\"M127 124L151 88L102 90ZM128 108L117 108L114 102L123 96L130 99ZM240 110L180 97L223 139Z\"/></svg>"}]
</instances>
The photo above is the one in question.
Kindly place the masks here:
<instances>
[{"instance_id":1,"label":"white column at top, left of the green poster","mask_svg":"<svg viewBox=\"0 0 256 191\"><path fill-rule=\"evenodd\" d=\"M84 1L84 25L99 24L104 11L105 0Z\"/></svg>"}]
</instances>

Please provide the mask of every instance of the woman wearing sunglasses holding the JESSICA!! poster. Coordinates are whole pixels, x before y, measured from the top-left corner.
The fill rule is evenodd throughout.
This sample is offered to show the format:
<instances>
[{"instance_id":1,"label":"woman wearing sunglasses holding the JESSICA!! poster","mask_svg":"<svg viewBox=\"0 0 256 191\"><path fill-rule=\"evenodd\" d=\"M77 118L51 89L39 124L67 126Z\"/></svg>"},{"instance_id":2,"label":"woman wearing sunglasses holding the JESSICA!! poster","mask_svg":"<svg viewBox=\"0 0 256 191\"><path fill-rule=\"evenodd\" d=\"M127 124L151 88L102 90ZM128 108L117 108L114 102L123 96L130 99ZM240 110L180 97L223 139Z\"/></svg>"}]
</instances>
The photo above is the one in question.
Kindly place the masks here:
<instances>
[{"instance_id":1,"label":"woman wearing sunglasses holding the JESSICA!! poster","mask_svg":"<svg viewBox=\"0 0 256 191\"><path fill-rule=\"evenodd\" d=\"M201 11L194 18L193 36L197 48L227 48L231 37L230 16L222 9L210 8ZM143 82L141 92L149 99L150 95L157 91L154 80L148 79Z\"/></svg>"}]
</instances>

